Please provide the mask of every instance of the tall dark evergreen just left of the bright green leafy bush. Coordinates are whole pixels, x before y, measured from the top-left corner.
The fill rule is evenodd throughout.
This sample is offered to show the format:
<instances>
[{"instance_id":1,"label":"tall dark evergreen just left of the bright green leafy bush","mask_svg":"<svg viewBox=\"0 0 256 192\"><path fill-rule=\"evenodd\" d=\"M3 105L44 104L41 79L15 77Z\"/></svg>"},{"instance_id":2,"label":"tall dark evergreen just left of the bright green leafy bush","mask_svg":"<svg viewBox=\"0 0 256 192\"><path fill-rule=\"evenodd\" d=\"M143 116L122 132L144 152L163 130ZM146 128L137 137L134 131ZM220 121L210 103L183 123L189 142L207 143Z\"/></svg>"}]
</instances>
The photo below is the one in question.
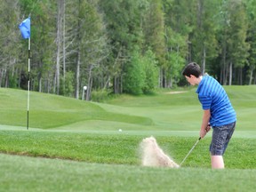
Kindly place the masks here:
<instances>
[{"instance_id":1,"label":"tall dark evergreen just left of the bright green leafy bush","mask_svg":"<svg viewBox=\"0 0 256 192\"><path fill-rule=\"evenodd\" d=\"M111 52L108 55L108 70L113 82L113 92L123 92L124 72L131 64L135 44L142 42L140 17L145 6L138 0L100 0L104 12Z\"/></svg>"}]
</instances>

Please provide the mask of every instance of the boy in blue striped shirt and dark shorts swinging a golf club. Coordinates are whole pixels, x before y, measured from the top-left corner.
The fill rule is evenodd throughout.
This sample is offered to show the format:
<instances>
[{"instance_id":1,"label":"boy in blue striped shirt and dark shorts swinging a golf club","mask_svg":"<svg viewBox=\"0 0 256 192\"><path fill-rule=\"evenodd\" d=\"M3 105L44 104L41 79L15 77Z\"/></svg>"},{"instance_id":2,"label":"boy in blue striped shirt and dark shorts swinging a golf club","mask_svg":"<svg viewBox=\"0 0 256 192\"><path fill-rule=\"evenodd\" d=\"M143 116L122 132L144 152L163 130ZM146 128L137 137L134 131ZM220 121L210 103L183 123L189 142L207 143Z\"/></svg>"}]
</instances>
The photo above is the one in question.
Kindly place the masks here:
<instances>
[{"instance_id":1,"label":"boy in blue striped shirt and dark shorts swinging a golf club","mask_svg":"<svg viewBox=\"0 0 256 192\"><path fill-rule=\"evenodd\" d=\"M212 76L202 76L201 69L195 62L189 63L182 75L186 77L189 84L198 84L196 93L204 109L200 137L204 138L212 126L210 145L212 169L223 169L222 156L235 130L236 112L223 87Z\"/></svg>"}]
</instances>

